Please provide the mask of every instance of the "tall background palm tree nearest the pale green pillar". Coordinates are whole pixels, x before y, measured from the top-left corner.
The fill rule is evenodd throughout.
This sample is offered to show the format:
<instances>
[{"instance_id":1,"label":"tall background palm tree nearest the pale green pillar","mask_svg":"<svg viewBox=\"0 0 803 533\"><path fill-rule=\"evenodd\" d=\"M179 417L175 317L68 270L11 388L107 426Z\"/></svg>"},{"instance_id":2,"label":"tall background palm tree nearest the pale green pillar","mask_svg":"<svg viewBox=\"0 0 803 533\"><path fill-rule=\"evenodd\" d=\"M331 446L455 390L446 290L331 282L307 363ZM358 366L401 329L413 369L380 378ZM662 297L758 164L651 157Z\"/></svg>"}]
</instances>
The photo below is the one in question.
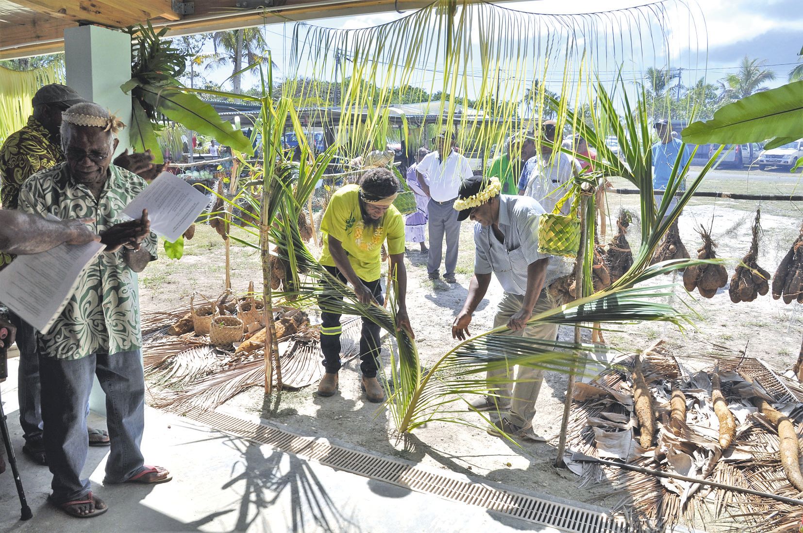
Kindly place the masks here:
<instances>
[{"instance_id":1,"label":"tall background palm tree nearest the pale green pillar","mask_svg":"<svg viewBox=\"0 0 803 533\"><path fill-rule=\"evenodd\" d=\"M206 67L221 68L231 64L232 92L238 94L242 92L240 71L243 70L243 59L247 65L260 63L267 59L267 52L270 51L259 28L216 31L212 36L212 44L214 54L204 57L210 61Z\"/></svg>"}]
</instances>

